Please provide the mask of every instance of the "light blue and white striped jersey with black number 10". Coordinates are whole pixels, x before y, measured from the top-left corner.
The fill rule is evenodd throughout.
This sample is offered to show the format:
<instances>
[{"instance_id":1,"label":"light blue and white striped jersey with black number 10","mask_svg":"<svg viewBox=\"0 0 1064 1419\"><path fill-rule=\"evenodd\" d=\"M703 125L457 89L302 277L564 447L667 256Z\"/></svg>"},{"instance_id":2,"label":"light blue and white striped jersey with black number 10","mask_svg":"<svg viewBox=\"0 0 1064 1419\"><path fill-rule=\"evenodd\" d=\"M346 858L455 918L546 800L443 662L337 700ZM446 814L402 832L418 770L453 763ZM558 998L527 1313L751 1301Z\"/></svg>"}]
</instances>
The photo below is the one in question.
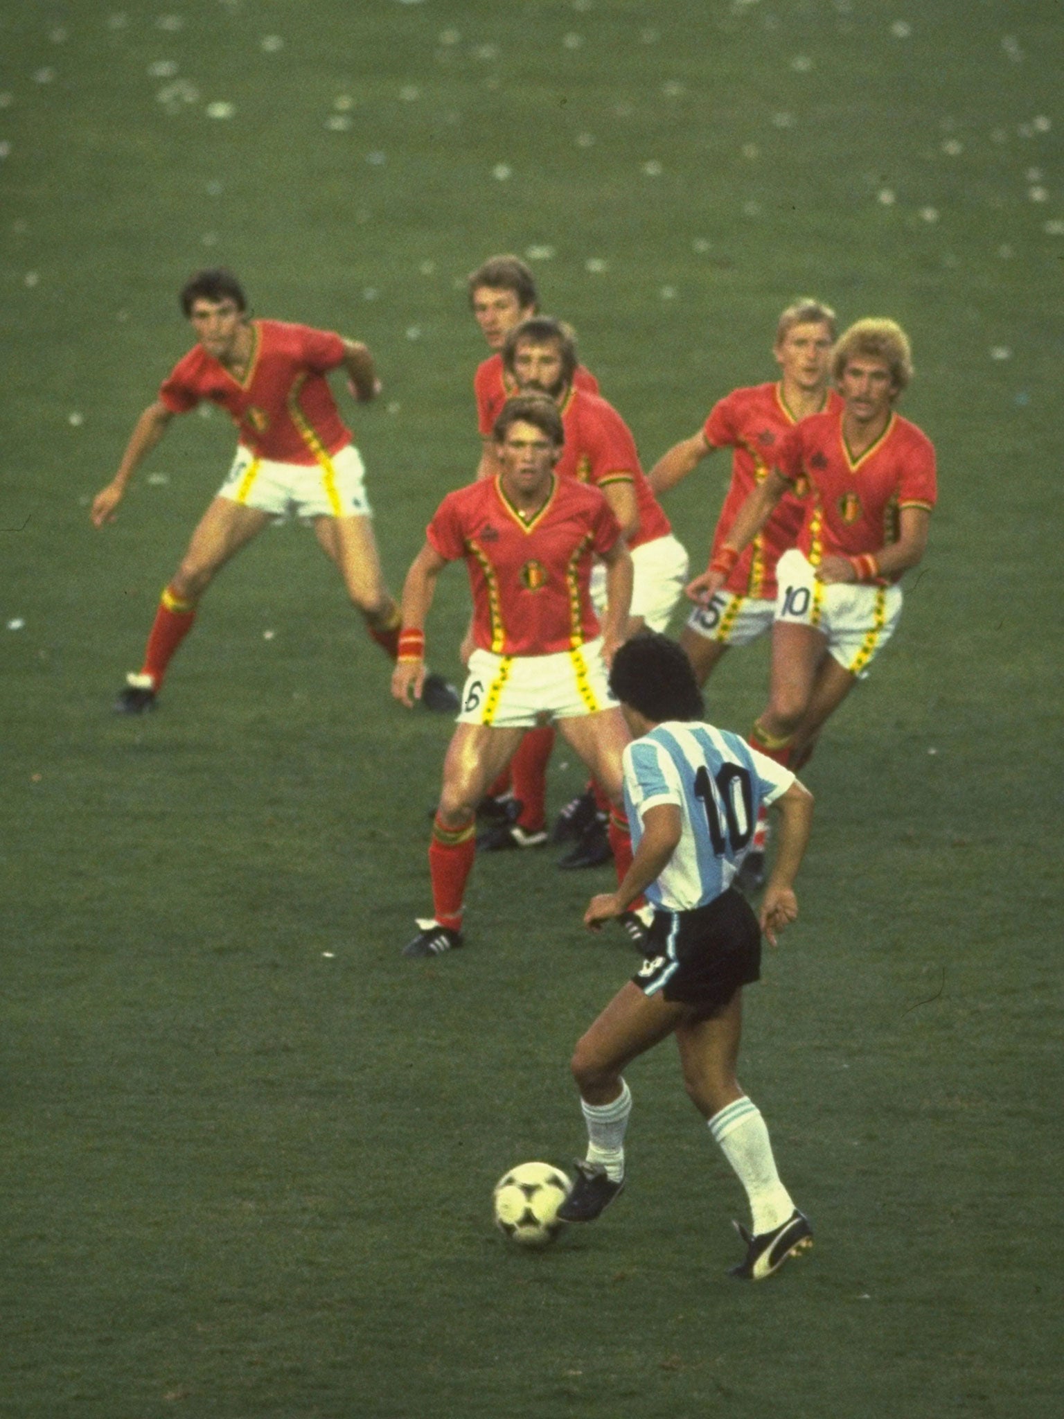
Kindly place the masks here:
<instances>
[{"instance_id":1,"label":"light blue and white striped jersey with black number 10","mask_svg":"<svg viewBox=\"0 0 1064 1419\"><path fill-rule=\"evenodd\" d=\"M624 749L624 806L633 847L643 815L674 803L682 833L647 898L665 911L705 907L731 885L746 856L758 809L794 782L790 769L711 724L670 719Z\"/></svg>"}]
</instances>

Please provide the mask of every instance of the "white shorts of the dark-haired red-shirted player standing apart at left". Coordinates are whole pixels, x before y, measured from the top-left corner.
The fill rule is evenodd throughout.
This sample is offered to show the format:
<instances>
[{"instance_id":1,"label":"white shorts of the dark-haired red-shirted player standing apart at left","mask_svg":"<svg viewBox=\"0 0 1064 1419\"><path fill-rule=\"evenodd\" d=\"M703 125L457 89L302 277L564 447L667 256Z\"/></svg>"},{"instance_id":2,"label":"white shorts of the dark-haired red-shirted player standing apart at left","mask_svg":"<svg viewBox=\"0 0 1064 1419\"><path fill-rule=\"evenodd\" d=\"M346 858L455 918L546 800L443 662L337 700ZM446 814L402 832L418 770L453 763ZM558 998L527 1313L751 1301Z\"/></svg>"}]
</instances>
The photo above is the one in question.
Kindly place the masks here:
<instances>
[{"instance_id":1,"label":"white shorts of the dark-haired red-shirted player standing apart at left","mask_svg":"<svg viewBox=\"0 0 1064 1419\"><path fill-rule=\"evenodd\" d=\"M366 497L366 468L352 444L322 454L322 461L314 464L257 458L241 444L218 497L275 518L373 517Z\"/></svg>"}]
</instances>

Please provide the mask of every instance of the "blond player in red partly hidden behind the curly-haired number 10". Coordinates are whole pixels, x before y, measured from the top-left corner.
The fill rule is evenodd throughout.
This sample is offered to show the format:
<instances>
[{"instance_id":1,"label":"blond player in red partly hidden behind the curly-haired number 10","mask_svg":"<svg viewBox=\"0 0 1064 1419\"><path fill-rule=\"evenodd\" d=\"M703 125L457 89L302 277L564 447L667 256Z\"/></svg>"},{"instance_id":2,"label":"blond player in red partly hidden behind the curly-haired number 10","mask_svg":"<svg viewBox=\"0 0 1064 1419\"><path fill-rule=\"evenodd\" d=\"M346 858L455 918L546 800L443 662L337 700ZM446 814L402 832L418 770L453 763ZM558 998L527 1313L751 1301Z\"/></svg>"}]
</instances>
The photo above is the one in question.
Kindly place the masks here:
<instances>
[{"instance_id":1,"label":"blond player in red partly hidden behind the curly-haired number 10","mask_svg":"<svg viewBox=\"0 0 1064 1419\"><path fill-rule=\"evenodd\" d=\"M726 541L732 522L749 494L769 474L780 440L809 414L837 413L843 400L829 387L836 314L804 297L789 305L776 325L773 355L780 379L767 385L733 389L714 404L704 427L674 444L654 464L648 477L654 492L674 488L716 448L732 448L732 478L714 531L709 558ZM772 627L776 609L776 562L794 546L806 508L785 494L772 517L748 545L721 590L695 606L680 636L699 685L732 646L748 646ZM767 820L762 815L753 843L743 858L736 885L756 891L765 884Z\"/></svg>"}]
</instances>

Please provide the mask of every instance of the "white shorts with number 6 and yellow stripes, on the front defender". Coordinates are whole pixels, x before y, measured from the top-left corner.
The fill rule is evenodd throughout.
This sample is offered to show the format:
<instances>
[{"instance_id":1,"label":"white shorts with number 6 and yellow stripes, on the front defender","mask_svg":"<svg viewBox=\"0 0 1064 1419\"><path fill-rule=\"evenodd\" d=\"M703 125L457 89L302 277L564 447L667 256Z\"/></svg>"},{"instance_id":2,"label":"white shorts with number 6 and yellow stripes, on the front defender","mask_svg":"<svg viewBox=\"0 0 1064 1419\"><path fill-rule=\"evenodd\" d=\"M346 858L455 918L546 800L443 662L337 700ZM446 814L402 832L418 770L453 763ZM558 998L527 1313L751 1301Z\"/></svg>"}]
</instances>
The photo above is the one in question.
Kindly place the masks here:
<instances>
[{"instance_id":1,"label":"white shorts with number 6 and yellow stripes, on the front defender","mask_svg":"<svg viewBox=\"0 0 1064 1419\"><path fill-rule=\"evenodd\" d=\"M474 650L458 724L528 729L545 717L570 719L613 710L602 640L552 656L495 656Z\"/></svg>"}]
</instances>

